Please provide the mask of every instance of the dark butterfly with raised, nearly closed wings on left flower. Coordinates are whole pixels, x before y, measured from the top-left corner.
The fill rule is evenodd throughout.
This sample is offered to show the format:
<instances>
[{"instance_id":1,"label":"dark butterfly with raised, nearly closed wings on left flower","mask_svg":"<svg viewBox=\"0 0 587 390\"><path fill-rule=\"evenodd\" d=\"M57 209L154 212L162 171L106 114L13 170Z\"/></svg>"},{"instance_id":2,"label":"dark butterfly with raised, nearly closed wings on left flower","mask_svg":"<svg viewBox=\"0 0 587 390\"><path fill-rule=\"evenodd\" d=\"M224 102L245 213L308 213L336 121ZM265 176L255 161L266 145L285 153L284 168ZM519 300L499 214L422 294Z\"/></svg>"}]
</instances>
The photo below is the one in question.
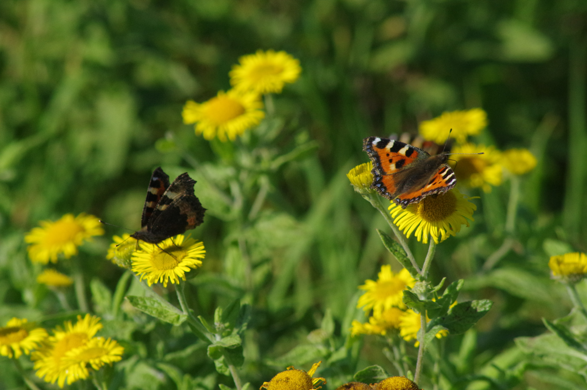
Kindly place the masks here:
<instances>
[{"instance_id":1,"label":"dark butterfly with raised, nearly closed wings on left flower","mask_svg":"<svg viewBox=\"0 0 587 390\"><path fill-rule=\"evenodd\" d=\"M194 184L195 180L185 172L169 185L163 169L155 169L147 189L142 228L131 237L156 244L204 222L206 209L194 195Z\"/></svg>"}]
</instances>

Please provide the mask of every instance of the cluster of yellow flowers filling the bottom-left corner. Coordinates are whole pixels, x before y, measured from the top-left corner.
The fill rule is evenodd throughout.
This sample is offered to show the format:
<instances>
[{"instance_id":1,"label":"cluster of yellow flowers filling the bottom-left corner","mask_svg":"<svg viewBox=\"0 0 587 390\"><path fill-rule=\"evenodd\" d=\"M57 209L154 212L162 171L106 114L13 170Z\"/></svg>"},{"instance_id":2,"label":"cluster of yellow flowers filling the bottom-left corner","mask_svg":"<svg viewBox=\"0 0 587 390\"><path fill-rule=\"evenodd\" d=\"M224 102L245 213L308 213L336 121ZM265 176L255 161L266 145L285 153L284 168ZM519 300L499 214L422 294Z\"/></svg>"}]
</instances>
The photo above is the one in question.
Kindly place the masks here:
<instances>
[{"instance_id":1,"label":"cluster of yellow flowers filling the bottom-left corner","mask_svg":"<svg viewBox=\"0 0 587 390\"><path fill-rule=\"evenodd\" d=\"M49 336L44 328L15 317L0 328L0 355L18 359L31 354L37 377L62 388L122 359L124 348L116 340L95 337L102 327L99 317L86 314L77 316L75 325L65 321Z\"/></svg>"}]
</instances>

